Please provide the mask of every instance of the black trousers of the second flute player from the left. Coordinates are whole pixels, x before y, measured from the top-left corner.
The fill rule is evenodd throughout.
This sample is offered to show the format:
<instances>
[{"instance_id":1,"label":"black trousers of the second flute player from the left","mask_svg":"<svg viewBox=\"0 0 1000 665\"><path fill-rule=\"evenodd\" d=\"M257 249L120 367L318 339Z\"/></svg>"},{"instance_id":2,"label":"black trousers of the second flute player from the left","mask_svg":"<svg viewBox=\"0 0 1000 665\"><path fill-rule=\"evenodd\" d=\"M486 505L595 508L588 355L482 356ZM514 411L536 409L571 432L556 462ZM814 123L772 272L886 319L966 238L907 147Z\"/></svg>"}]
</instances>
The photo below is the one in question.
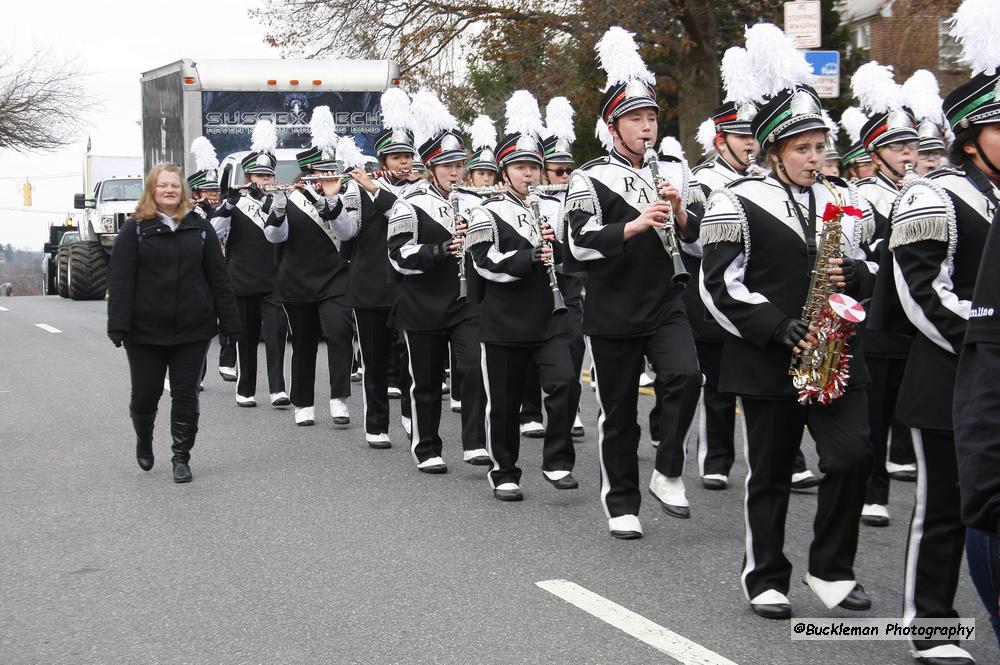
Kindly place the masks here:
<instances>
[{"instance_id":1,"label":"black trousers of the second flute player from the left","mask_svg":"<svg viewBox=\"0 0 1000 665\"><path fill-rule=\"evenodd\" d=\"M330 372L330 398L351 396L353 328L351 308L335 300L317 303L285 303L292 333L292 404L302 408L316 401L316 354L320 338L326 338Z\"/></svg>"}]
</instances>

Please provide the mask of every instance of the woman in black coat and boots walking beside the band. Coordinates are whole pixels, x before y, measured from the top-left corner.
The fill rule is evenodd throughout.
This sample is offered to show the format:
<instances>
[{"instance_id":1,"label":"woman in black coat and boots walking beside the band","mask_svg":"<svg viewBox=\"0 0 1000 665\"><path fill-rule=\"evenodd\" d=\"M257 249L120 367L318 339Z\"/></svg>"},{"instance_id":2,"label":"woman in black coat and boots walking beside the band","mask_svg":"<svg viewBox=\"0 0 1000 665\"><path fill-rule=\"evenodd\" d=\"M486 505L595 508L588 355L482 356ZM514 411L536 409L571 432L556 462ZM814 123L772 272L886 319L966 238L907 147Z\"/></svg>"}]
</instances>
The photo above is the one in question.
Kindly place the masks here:
<instances>
[{"instance_id":1,"label":"woman in black coat and boots walking beside the band","mask_svg":"<svg viewBox=\"0 0 1000 665\"><path fill-rule=\"evenodd\" d=\"M170 372L174 482L191 481L198 383L212 337L239 333L236 299L219 239L191 209L181 168L154 166L134 216L115 240L108 281L108 337L125 344L136 459L153 468L153 424Z\"/></svg>"}]
</instances>

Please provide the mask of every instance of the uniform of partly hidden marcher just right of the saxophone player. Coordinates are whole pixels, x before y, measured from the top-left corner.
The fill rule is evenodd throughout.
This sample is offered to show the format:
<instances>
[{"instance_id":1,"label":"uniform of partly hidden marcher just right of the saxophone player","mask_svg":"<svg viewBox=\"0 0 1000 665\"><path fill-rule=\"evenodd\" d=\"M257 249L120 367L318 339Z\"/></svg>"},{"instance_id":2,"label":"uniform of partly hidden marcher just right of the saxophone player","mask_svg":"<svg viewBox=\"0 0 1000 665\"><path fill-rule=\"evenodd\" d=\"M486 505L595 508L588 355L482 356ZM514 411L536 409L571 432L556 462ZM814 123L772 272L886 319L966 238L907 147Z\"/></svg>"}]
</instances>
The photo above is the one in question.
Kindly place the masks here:
<instances>
[{"instance_id":1,"label":"uniform of partly hidden marcher just right of the saxophone player","mask_svg":"<svg viewBox=\"0 0 1000 665\"><path fill-rule=\"evenodd\" d=\"M883 173L862 178L855 186L874 213L874 228L871 233L866 229L871 238L868 243L869 257L886 266L884 271L880 270L881 274L875 281L872 304L868 309L881 309L893 314L892 321L885 324L867 321L861 331L865 338L865 363L872 377L868 385L868 426L874 455L865 503L884 506L889 503L889 472L885 468L887 449L888 459L896 464L912 464L914 461L910 429L896 418L896 398L903 380L906 353L913 339L913 328L899 308L887 242L892 204L899 195L899 188ZM879 304L880 300L889 300L891 307Z\"/></svg>"}]
</instances>

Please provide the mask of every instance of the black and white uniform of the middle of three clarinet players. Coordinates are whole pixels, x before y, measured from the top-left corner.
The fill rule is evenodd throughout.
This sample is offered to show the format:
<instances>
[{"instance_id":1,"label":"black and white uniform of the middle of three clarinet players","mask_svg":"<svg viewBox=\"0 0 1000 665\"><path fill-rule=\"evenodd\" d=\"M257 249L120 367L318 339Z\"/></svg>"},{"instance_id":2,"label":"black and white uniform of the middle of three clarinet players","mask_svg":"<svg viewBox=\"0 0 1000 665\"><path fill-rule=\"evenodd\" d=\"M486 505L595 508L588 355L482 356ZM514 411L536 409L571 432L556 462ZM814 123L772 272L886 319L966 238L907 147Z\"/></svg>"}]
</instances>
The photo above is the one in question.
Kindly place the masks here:
<instances>
[{"instance_id":1,"label":"black and white uniform of the middle of three clarinet players","mask_svg":"<svg viewBox=\"0 0 1000 665\"><path fill-rule=\"evenodd\" d=\"M541 216L555 229L558 199L539 198ZM532 361L548 415L542 469L572 471L576 454L570 437L570 396L572 384L579 381L573 376L565 313L553 314L548 271L535 258L541 238L534 214L511 192L489 199L470 211L466 242L483 278L480 339L486 450L493 461L490 486L520 482L518 412ZM558 262L559 243L553 243L553 251Z\"/></svg>"}]
</instances>

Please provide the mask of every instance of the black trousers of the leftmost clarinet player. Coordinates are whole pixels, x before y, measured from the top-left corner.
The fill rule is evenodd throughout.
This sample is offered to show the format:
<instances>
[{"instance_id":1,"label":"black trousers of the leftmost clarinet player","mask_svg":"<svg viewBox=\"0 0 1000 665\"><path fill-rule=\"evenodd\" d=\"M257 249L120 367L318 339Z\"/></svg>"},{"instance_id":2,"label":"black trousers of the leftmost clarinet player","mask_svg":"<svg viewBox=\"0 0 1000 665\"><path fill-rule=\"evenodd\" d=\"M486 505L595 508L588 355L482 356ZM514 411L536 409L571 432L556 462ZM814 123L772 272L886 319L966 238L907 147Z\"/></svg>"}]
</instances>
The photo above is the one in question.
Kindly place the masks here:
<instances>
[{"instance_id":1,"label":"black trousers of the leftmost clarinet player","mask_svg":"<svg viewBox=\"0 0 1000 665\"><path fill-rule=\"evenodd\" d=\"M483 376L480 366L479 319L466 319L446 330L404 331L409 354L413 430L410 451L417 463L440 457L441 377L448 361L448 344L455 355L452 374L462 382L462 448L485 448ZM404 396L405 397L405 396Z\"/></svg>"}]
</instances>

